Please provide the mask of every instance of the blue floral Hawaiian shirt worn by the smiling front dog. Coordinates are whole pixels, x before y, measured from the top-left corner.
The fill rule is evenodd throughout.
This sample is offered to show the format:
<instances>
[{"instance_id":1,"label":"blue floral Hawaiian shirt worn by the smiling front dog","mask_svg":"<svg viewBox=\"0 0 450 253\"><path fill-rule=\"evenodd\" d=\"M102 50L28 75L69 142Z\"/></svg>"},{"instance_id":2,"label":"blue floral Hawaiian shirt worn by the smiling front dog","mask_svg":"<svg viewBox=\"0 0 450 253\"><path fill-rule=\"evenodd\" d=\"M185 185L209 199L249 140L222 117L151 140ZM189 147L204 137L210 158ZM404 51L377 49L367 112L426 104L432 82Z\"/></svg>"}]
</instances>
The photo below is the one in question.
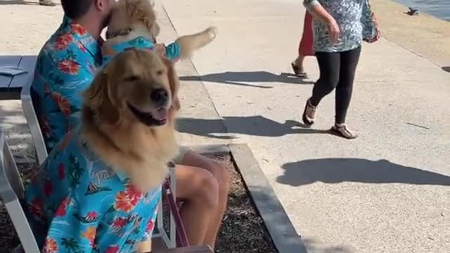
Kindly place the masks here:
<instances>
[{"instance_id":1,"label":"blue floral Hawaiian shirt worn by the smiling front dog","mask_svg":"<svg viewBox=\"0 0 450 253\"><path fill-rule=\"evenodd\" d=\"M128 253L153 232L160 189L138 190L74 129L25 186L24 206L43 252Z\"/></svg>"}]
</instances>

